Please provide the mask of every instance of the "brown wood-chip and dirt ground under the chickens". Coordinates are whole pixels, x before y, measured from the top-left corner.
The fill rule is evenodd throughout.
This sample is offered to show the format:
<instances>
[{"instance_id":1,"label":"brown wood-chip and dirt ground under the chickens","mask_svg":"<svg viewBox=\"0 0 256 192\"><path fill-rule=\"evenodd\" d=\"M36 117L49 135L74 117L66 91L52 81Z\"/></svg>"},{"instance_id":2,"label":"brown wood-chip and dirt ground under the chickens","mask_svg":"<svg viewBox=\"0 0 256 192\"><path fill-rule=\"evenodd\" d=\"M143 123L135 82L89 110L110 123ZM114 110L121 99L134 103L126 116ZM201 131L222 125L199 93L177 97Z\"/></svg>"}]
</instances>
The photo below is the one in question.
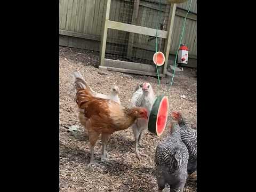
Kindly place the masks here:
<instances>
[{"instance_id":1,"label":"brown wood-chip and dirt ground under the chickens","mask_svg":"<svg viewBox=\"0 0 256 192\"><path fill-rule=\"evenodd\" d=\"M134 137L131 129L115 132L107 145L107 151L113 166L89 166L90 145L88 135L78 121L76 103L71 74L79 70L94 91L108 94L111 86L119 86L121 104L128 106L135 87L142 82L149 82L156 95L165 94L169 97L169 113L173 110L182 111L196 125L196 78L195 70L185 68L183 74L174 78L171 90L163 83L158 85L157 78L123 74L107 71L102 74L97 68L99 53L79 49L60 47L60 191L157 191L154 176L154 155L157 144L165 137L145 131L139 148L146 157L139 162L134 154ZM185 95L186 98L182 98ZM170 114L169 114L170 115ZM170 119L167 123L169 123ZM67 132L67 127L78 126L78 131ZM101 143L95 146L95 157L100 159ZM169 186L163 191L170 191ZM192 175L184 191L196 191L196 173Z\"/></svg>"}]
</instances>

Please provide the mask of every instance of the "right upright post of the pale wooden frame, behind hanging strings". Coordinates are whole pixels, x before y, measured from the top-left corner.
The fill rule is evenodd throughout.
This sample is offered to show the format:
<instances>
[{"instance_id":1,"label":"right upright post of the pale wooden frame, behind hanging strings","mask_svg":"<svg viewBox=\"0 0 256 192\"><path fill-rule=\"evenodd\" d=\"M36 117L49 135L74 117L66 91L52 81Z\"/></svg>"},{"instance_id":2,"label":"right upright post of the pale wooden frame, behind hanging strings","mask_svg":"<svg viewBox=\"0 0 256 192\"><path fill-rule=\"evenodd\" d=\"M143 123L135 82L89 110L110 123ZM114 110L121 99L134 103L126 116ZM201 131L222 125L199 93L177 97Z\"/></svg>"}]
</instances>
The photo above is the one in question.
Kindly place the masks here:
<instances>
[{"instance_id":1,"label":"right upright post of the pale wooden frame, behind hanging strings","mask_svg":"<svg viewBox=\"0 0 256 192\"><path fill-rule=\"evenodd\" d=\"M168 35L167 35L167 39L165 41L165 47L164 47L164 53L165 53L165 62L164 62L164 70L163 70L164 75L166 74L167 65L168 65L168 58L169 58L169 52L171 47L171 38L172 38L172 30L173 30L176 6L177 4L171 4L171 7L170 7L168 27L167 27Z\"/></svg>"}]
</instances>

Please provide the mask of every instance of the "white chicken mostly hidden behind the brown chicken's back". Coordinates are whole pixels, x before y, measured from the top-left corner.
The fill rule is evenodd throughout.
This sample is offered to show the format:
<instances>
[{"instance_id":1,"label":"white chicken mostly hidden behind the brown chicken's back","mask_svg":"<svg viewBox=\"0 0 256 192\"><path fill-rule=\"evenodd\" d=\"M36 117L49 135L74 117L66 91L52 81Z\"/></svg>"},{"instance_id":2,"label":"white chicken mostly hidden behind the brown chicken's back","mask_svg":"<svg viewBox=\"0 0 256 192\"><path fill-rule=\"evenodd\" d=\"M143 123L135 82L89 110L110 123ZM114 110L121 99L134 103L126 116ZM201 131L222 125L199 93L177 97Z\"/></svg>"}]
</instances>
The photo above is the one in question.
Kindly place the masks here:
<instances>
[{"instance_id":1,"label":"white chicken mostly hidden behind the brown chicken's back","mask_svg":"<svg viewBox=\"0 0 256 192\"><path fill-rule=\"evenodd\" d=\"M85 79L83 78L83 76L81 75L81 73L79 71L74 71L73 82L75 81L75 79L78 79L79 81L81 81L81 84L85 85L84 89L89 90L92 93L93 97L102 98L102 99L111 99L111 100L117 102L119 105L121 104L119 97L118 97L118 94L119 94L118 86L115 85L115 86L111 87L110 93L108 95L105 95L105 94L101 94L101 93L97 93L97 92L93 91L91 89L91 87L86 83Z\"/></svg>"}]
</instances>

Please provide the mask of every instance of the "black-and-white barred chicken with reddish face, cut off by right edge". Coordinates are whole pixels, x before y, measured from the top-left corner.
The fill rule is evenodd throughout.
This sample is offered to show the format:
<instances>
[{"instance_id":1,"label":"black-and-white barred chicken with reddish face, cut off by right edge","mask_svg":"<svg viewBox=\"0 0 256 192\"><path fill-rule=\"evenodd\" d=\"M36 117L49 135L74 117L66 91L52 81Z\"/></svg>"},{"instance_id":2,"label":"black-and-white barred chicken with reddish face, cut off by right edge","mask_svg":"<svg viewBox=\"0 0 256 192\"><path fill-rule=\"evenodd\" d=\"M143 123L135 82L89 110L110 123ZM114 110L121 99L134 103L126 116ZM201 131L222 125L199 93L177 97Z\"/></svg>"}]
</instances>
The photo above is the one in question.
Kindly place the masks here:
<instances>
[{"instance_id":1,"label":"black-and-white barred chicken with reddish face, cut off by right edge","mask_svg":"<svg viewBox=\"0 0 256 192\"><path fill-rule=\"evenodd\" d=\"M188 123L188 120L184 118L180 112L174 111L171 116L180 125L180 135L182 142L185 143L188 148L188 174L192 174L196 171L197 166L197 134L196 130L192 129Z\"/></svg>"}]
</instances>

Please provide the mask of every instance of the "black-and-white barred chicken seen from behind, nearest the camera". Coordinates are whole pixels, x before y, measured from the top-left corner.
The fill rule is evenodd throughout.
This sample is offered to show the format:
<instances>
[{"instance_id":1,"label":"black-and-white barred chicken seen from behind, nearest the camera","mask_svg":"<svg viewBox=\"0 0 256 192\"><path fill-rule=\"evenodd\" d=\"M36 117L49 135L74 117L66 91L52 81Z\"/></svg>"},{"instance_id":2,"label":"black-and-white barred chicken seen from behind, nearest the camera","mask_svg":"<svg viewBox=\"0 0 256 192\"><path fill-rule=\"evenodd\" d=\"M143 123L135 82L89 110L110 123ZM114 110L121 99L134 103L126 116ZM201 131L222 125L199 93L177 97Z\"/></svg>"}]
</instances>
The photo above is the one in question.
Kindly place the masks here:
<instances>
[{"instance_id":1,"label":"black-and-white barred chicken seen from behind, nearest the camera","mask_svg":"<svg viewBox=\"0 0 256 192\"><path fill-rule=\"evenodd\" d=\"M170 185L170 191L183 191L188 173L188 149L180 137L180 127L177 123L171 123L169 134L156 147L155 173L158 191Z\"/></svg>"}]
</instances>

